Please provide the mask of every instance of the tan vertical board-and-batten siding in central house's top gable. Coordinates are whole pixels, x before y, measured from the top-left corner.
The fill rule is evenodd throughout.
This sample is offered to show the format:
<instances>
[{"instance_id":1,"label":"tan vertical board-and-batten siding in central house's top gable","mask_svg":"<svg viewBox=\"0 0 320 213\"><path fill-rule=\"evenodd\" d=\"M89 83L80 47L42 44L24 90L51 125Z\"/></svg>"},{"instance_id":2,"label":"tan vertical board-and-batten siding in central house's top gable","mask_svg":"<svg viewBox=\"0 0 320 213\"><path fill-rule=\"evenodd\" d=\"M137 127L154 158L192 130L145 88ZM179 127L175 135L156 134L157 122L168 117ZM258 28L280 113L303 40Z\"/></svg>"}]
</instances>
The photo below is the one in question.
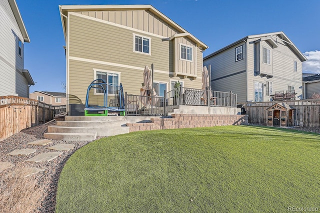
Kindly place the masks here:
<instances>
[{"instance_id":1,"label":"tan vertical board-and-batten siding in central house's top gable","mask_svg":"<svg viewBox=\"0 0 320 213\"><path fill-rule=\"evenodd\" d=\"M164 37L179 33L177 29L148 10L79 11L77 13Z\"/></svg>"}]
</instances>

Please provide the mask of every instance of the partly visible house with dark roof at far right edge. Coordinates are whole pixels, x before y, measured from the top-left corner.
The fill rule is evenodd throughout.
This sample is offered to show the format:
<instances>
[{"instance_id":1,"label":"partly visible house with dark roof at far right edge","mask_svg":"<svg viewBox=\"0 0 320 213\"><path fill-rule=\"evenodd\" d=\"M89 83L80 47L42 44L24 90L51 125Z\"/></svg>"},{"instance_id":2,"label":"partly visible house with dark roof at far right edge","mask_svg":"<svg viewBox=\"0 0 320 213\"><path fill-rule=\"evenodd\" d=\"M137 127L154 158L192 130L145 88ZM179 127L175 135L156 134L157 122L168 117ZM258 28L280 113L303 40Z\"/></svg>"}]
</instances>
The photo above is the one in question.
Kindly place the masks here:
<instances>
[{"instance_id":1,"label":"partly visible house with dark roof at far right edge","mask_svg":"<svg viewBox=\"0 0 320 213\"><path fill-rule=\"evenodd\" d=\"M311 98L313 94L320 97L320 74L303 77L303 99Z\"/></svg>"}]
</instances>

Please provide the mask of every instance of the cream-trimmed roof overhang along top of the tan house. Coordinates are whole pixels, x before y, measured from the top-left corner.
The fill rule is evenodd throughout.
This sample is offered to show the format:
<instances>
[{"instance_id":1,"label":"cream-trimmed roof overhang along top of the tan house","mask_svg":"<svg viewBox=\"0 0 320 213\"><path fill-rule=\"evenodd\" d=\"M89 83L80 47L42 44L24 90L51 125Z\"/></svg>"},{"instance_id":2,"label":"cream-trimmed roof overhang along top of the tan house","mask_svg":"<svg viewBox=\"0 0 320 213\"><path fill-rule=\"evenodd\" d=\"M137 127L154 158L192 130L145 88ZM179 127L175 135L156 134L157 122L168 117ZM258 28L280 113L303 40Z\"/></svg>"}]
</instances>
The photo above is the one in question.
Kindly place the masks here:
<instances>
[{"instance_id":1,"label":"cream-trimmed roof overhang along top of the tan house","mask_svg":"<svg viewBox=\"0 0 320 213\"><path fill-rule=\"evenodd\" d=\"M104 10L149 10L153 14L160 17L167 24L177 29L178 34L183 34L183 36L188 37L193 42L195 42L198 46L202 46L203 50L208 48L208 46L203 43L201 40L193 36L191 33L182 28L179 24L175 23L173 20L165 16L162 12L154 8L152 5L59 5L62 28L64 33L64 39L66 39L66 22L64 18L67 17L68 12L76 12L76 11L104 11ZM64 18L63 18L64 17ZM171 38L172 39L172 38Z\"/></svg>"}]
</instances>

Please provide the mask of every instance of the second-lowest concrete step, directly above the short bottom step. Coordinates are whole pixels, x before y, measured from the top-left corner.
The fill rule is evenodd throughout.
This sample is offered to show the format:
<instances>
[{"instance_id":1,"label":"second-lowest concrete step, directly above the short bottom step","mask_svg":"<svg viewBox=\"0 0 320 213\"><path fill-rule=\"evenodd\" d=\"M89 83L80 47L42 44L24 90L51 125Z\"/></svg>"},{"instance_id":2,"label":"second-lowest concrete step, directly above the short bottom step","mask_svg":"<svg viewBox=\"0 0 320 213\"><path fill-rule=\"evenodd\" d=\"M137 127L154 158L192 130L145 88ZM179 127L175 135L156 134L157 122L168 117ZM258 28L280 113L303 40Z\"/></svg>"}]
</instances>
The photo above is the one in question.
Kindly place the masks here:
<instances>
[{"instance_id":1,"label":"second-lowest concrete step, directly above the short bottom step","mask_svg":"<svg viewBox=\"0 0 320 213\"><path fill-rule=\"evenodd\" d=\"M96 133L97 136L111 136L129 132L128 126L48 126L48 132L56 133Z\"/></svg>"}]
</instances>

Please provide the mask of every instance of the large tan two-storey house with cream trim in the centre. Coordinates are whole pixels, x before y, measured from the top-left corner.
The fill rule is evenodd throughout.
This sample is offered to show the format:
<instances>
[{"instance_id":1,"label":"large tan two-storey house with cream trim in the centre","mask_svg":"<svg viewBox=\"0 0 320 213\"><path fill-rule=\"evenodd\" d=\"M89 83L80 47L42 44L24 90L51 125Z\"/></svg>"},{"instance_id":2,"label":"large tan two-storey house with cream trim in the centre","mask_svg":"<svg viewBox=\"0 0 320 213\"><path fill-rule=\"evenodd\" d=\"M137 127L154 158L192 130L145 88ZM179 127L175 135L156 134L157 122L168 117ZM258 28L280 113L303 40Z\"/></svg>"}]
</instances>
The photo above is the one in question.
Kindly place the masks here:
<instances>
[{"instance_id":1,"label":"large tan two-storey house with cream trim in the centre","mask_svg":"<svg viewBox=\"0 0 320 213\"><path fill-rule=\"evenodd\" d=\"M121 82L124 91L140 94L144 67L151 63L159 95L178 80L185 87L201 88L202 51L207 45L153 6L60 5L59 9L66 41L67 103L82 105L68 111L78 108L83 113L87 86L96 78L115 85ZM102 100L99 90L93 95Z\"/></svg>"}]
</instances>

